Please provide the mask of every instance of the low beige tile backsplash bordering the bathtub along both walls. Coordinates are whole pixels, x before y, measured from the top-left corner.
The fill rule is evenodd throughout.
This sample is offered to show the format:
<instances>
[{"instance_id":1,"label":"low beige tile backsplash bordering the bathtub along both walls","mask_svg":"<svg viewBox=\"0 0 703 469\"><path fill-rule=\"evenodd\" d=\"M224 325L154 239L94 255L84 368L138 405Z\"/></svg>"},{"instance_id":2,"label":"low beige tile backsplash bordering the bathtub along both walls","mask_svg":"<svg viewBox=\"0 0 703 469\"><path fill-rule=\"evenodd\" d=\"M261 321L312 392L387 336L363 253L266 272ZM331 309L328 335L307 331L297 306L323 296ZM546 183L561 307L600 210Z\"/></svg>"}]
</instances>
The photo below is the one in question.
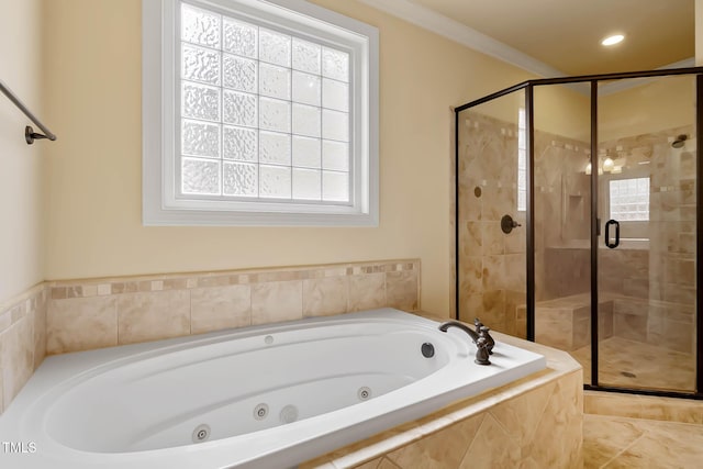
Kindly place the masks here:
<instances>
[{"instance_id":1,"label":"low beige tile backsplash bordering the bathtub along both walls","mask_svg":"<svg viewBox=\"0 0 703 469\"><path fill-rule=\"evenodd\" d=\"M383 306L420 308L419 259L46 282L0 306L0 409L45 355Z\"/></svg>"}]
</instances>

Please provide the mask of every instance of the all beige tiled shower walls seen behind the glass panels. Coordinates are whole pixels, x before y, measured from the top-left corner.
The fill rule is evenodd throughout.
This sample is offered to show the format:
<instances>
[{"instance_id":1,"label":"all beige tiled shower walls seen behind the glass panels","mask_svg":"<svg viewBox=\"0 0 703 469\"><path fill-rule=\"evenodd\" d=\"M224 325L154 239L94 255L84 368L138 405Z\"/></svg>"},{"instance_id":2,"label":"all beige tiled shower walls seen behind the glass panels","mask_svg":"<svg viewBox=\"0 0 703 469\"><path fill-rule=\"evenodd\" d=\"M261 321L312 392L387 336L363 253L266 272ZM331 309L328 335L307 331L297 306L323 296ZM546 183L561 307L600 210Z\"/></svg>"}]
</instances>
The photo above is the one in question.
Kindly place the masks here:
<instances>
[{"instance_id":1,"label":"all beige tiled shower walls seen behind the glass panels","mask_svg":"<svg viewBox=\"0 0 703 469\"><path fill-rule=\"evenodd\" d=\"M515 123L465 111L458 127L460 308L492 328L524 334L525 231L502 233L500 219L517 211ZM695 300L695 155L672 150L669 137L691 127L601 144L624 158L625 174L650 160L648 249L599 250L600 290L639 301L614 306L614 333L641 342L672 337L690 350ZM590 177L588 143L535 132L535 297L546 301L590 291ZM621 160L617 160L622 163ZM607 181L602 180L602 185Z\"/></svg>"}]
</instances>

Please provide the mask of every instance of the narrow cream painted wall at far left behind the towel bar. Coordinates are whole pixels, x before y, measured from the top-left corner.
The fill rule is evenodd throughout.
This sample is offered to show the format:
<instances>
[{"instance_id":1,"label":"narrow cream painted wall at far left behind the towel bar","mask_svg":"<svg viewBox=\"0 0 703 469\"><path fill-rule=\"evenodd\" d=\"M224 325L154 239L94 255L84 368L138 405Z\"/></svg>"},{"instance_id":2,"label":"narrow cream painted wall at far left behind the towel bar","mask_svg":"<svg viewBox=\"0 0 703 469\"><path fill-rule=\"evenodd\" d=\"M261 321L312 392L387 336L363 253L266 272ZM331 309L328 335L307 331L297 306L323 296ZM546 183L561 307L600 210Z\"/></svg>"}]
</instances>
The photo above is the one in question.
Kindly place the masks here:
<instances>
[{"instance_id":1,"label":"narrow cream painted wall at far left behind the towel bar","mask_svg":"<svg viewBox=\"0 0 703 469\"><path fill-rule=\"evenodd\" d=\"M0 0L0 80L42 116L40 4L41 0ZM0 303L44 278L42 152L46 143L24 143L29 123L0 93Z\"/></svg>"}]
</instances>

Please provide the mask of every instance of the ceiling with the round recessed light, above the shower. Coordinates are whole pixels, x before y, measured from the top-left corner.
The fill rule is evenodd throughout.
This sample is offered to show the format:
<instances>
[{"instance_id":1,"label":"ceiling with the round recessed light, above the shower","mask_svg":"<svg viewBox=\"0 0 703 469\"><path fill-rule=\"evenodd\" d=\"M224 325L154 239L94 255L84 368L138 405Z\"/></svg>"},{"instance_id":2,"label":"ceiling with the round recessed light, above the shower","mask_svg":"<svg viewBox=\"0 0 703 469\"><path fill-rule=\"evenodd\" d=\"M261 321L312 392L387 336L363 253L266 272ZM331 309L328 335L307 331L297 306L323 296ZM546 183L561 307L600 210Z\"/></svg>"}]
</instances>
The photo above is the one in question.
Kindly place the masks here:
<instances>
[{"instance_id":1,"label":"ceiling with the round recessed light, above the shower","mask_svg":"<svg viewBox=\"0 0 703 469\"><path fill-rule=\"evenodd\" d=\"M431 10L461 23L468 30L490 36L561 75L648 70L693 57L694 2L695 0L367 1L389 12L397 9L395 12L408 13L413 7L417 11ZM439 19L438 15L433 15L434 23ZM415 22L421 24L422 20ZM625 41L610 48L601 46L600 41L613 33L625 34Z\"/></svg>"}]
</instances>

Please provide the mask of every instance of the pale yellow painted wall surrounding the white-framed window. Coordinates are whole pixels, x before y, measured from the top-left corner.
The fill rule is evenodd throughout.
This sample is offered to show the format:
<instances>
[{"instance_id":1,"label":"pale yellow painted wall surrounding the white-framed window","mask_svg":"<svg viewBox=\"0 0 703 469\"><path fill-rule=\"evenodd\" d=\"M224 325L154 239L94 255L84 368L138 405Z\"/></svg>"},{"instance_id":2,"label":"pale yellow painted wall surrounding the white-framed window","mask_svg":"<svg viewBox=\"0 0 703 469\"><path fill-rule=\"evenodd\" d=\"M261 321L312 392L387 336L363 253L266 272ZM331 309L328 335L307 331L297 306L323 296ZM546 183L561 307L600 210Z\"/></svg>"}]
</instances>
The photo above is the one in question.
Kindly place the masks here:
<instances>
[{"instance_id":1,"label":"pale yellow painted wall surrounding the white-framed window","mask_svg":"<svg viewBox=\"0 0 703 469\"><path fill-rule=\"evenodd\" d=\"M365 4L315 3L380 30L380 226L142 226L141 1L52 0L47 279L415 257L421 308L448 314L449 108L531 77Z\"/></svg>"}]
</instances>

